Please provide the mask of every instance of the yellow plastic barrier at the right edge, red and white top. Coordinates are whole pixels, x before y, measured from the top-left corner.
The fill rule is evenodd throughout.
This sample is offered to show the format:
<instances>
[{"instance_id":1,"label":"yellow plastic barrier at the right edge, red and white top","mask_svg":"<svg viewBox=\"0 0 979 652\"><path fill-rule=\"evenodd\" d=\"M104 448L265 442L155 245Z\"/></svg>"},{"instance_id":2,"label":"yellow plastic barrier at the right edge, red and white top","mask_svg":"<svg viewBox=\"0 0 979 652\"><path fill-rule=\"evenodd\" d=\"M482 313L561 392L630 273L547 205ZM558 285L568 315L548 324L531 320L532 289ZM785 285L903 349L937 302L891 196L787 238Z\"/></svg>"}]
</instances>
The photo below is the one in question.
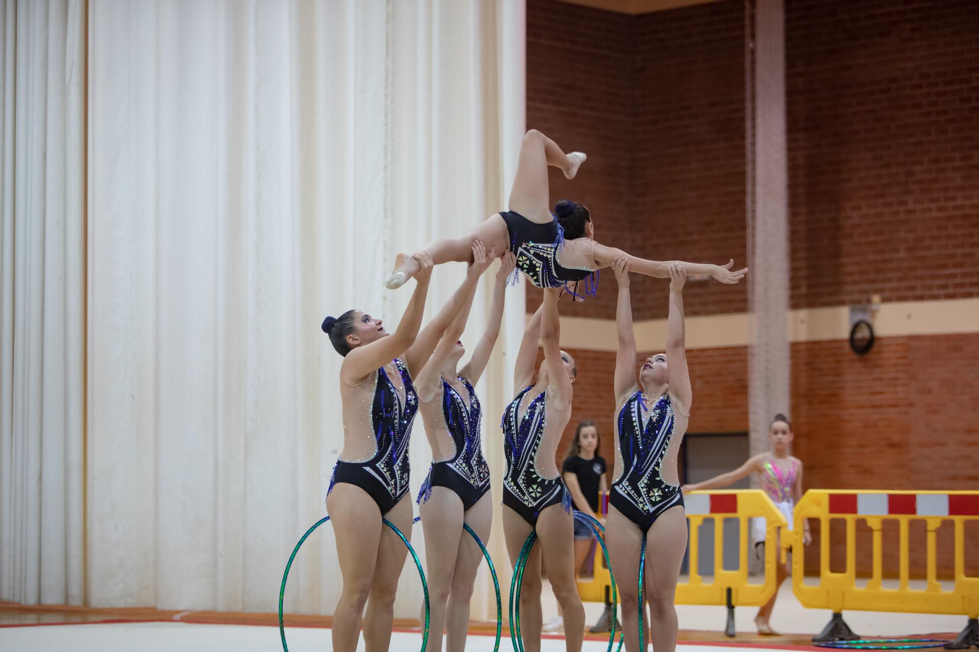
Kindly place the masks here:
<instances>
[{"instance_id":1,"label":"yellow plastic barrier at the right edge, red and white top","mask_svg":"<svg viewBox=\"0 0 979 652\"><path fill-rule=\"evenodd\" d=\"M922 614L960 614L970 623L979 616L979 578L965 575L965 522L979 520L979 491L882 491L810 489L794 510L795 536L783 536L783 549L792 548L792 589L803 606L831 609L833 621L816 639L852 635L840 617L844 609L898 611ZM804 519L817 519L822 533L819 544L819 583L805 583ZM830 519L846 523L846 570L829 569ZM871 577L857 585L857 522L865 521L872 536ZM897 588L884 588L882 577L881 524L896 521L899 527ZM912 520L927 528L926 582L923 589L909 587L909 536ZM937 580L936 530L943 522L955 524L955 588L944 590ZM783 552L784 554L784 552ZM964 632L963 632L964 633Z\"/></svg>"}]
</instances>

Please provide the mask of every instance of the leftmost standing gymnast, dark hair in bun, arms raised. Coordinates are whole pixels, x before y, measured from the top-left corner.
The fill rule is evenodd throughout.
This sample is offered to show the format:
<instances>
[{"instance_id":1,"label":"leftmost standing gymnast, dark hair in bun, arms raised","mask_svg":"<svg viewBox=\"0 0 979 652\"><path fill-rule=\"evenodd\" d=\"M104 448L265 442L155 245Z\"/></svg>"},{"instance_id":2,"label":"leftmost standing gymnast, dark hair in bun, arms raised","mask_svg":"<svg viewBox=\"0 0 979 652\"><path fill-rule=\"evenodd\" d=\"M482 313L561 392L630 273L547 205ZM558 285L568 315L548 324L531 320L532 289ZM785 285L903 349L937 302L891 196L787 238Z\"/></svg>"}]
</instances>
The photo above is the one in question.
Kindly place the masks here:
<instances>
[{"instance_id":1,"label":"leftmost standing gymnast, dark hair in bun, arms raised","mask_svg":"<svg viewBox=\"0 0 979 652\"><path fill-rule=\"evenodd\" d=\"M344 356L344 448L326 499L344 580L334 612L333 649L343 652L356 649L361 614L368 647L388 648L407 549L383 527L382 518L411 536L408 441L418 409L412 372L423 368L476 282L467 278L419 332L432 260L425 253L418 258L417 287L394 334L361 310L323 320L323 331Z\"/></svg>"}]
</instances>

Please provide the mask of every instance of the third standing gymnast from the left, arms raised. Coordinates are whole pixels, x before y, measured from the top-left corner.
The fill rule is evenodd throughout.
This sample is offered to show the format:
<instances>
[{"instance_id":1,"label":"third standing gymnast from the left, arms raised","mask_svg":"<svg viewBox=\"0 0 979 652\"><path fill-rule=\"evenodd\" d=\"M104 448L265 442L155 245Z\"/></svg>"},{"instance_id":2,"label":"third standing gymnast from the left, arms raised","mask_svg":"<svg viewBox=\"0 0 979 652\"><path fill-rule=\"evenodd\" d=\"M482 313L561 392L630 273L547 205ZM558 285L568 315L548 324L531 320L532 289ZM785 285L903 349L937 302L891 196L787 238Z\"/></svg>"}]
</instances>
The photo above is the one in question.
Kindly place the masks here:
<instances>
[{"instance_id":1,"label":"third standing gymnast from the left, arms raised","mask_svg":"<svg viewBox=\"0 0 979 652\"><path fill-rule=\"evenodd\" d=\"M540 564L564 614L568 650L582 649L584 608L575 580L575 534L571 494L557 468L557 445L571 417L572 387L578 369L559 348L557 299L561 290L544 291L540 308L527 325L517 353L513 386L519 391L503 410L503 535L510 562L536 531L520 597L524 646L540 649ZM535 378L537 340L544 361Z\"/></svg>"}]
</instances>

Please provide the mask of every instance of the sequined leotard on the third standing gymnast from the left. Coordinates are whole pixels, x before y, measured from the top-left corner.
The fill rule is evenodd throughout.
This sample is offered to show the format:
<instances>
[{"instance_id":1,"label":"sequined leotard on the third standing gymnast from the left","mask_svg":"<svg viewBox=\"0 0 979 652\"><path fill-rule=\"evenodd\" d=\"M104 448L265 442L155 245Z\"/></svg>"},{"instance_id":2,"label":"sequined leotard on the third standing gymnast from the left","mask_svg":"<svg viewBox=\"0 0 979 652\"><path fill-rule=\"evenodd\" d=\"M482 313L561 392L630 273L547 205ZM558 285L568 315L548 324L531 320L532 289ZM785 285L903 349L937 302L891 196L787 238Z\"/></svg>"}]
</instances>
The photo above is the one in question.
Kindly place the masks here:
<instances>
[{"instance_id":1,"label":"sequined leotard on the third standing gymnast from the left","mask_svg":"<svg viewBox=\"0 0 979 652\"><path fill-rule=\"evenodd\" d=\"M528 387L503 410L503 452L506 473L503 476L503 504L532 526L545 507L562 503L571 511L571 493L558 474L544 478L537 469L537 453L547 430L547 391L537 395L518 418L520 402L533 388Z\"/></svg>"}]
</instances>

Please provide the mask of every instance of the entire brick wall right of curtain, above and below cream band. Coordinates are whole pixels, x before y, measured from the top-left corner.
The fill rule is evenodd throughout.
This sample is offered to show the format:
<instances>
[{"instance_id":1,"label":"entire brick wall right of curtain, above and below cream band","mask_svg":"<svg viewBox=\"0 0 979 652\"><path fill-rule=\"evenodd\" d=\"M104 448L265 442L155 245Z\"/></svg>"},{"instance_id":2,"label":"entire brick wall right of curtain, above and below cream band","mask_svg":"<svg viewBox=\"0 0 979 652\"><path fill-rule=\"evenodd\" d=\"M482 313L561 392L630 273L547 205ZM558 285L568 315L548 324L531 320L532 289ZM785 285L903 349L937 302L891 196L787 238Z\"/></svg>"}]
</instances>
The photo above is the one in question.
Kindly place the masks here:
<instances>
[{"instance_id":1,"label":"entire brick wall right of curtain, above and below cream band","mask_svg":"<svg viewBox=\"0 0 979 652\"><path fill-rule=\"evenodd\" d=\"M979 6L786 5L792 307L979 297ZM733 0L639 17L528 1L528 126L588 153L580 179L552 173L551 192L592 209L599 241L650 258L744 259L743 28ZM632 287L636 319L666 316L666 282ZM687 313L743 311L746 290L689 283ZM614 306L607 273L596 300L561 310L614 318ZM569 430L595 420L611 460L615 355L571 352L581 378ZM689 356L690 432L747 430L746 349ZM979 486L977 359L979 335L883 338L864 357L843 341L793 345L806 486ZM912 558L913 572L922 563Z\"/></svg>"}]
</instances>

